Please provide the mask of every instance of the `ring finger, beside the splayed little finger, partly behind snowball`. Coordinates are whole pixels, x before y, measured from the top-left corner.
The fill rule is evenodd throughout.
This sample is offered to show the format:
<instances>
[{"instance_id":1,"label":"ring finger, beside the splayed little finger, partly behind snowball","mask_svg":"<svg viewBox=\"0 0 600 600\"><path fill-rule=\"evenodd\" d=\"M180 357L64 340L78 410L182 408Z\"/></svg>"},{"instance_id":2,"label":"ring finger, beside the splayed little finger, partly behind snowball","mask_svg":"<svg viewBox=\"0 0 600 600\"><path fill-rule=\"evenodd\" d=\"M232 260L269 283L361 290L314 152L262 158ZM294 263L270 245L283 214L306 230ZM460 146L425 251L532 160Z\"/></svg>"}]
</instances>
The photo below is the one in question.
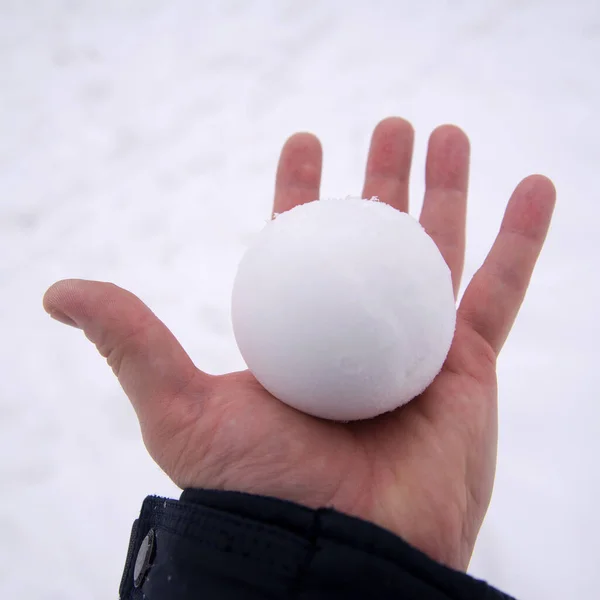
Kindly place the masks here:
<instances>
[{"instance_id":1,"label":"ring finger, beside the splayed little finger, partly behind snowball","mask_svg":"<svg viewBox=\"0 0 600 600\"><path fill-rule=\"evenodd\" d=\"M465 260L468 179L469 139L458 127L438 127L429 138L420 222L450 268L455 296Z\"/></svg>"}]
</instances>

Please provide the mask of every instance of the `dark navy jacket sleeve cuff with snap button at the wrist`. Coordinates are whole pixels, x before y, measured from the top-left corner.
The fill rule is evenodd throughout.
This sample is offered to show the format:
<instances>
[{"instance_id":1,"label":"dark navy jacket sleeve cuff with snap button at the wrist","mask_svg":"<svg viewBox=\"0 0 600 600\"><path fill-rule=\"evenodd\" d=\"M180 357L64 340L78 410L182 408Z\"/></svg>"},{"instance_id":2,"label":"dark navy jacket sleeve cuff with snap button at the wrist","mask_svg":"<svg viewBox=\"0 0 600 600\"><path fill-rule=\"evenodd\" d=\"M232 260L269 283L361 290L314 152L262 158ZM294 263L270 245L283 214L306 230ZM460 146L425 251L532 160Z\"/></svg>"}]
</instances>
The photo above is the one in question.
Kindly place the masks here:
<instances>
[{"instance_id":1,"label":"dark navy jacket sleeve cuff with snap button at the wrist","mask_svg":"<svg viewBox=\"0 0 600 600\"><path fill-rule=\"evenodd\" d=\"M509 600L391 532L333 509L238 492L150 496L122 600Z\"/></svg>"}]
</instances>

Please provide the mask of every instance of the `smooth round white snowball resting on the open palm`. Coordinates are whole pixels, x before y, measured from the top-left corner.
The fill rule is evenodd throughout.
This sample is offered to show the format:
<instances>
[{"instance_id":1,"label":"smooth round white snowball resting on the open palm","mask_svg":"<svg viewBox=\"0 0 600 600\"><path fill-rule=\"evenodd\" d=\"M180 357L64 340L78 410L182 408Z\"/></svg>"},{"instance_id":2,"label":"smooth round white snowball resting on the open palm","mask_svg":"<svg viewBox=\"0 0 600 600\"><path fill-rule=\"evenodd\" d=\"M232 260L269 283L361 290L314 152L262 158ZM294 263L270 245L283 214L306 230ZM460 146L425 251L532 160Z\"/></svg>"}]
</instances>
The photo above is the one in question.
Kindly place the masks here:
<instances>
[{"instance_id":1,"label":"smooth round white snowball resting on the open palm","mask_svg":"<svg viewBox=\"0 0 600 600\"><path fill-rule=\"evenodd\" d=\"M448 354L450 271L412 217L347 198L270 221L233 287L235 337L271 394L305 413L368 419L419 395Z\"/></svg>"}]
</instances>

